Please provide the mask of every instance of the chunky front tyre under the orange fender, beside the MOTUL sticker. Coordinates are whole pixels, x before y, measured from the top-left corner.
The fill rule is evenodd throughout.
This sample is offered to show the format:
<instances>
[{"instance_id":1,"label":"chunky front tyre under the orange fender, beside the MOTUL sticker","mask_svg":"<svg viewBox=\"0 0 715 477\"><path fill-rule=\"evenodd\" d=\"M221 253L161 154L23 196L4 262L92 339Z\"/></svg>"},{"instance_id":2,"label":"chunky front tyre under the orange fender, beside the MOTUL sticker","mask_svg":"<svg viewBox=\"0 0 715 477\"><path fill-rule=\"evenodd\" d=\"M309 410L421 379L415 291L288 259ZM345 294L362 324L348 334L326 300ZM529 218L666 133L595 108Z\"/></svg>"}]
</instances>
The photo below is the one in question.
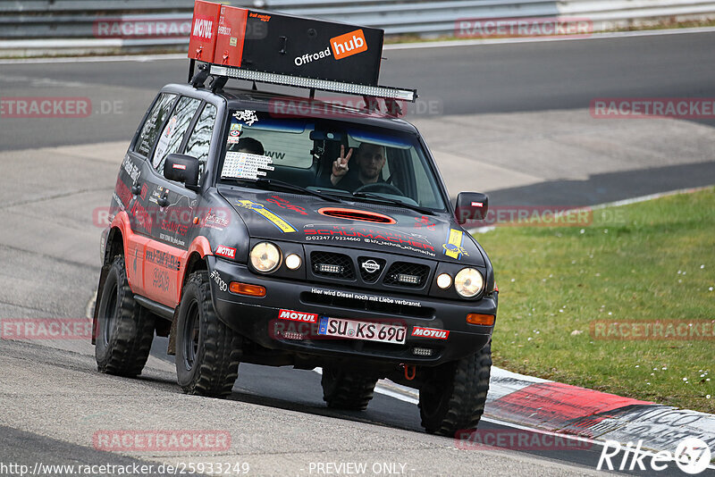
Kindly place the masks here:
<instances>
[{"instance_id":1,"label":"chunky front tyre under the orange fender, beside the MOTUL sticker","mask_svg":"<svg viewBox=\"0 0 715 477\"><path fill-rule=\"evenodd\" d=\"M239 375L240 337L214 311L208 272L194 272L182 291L176 323L176 376L188 394L226 397Z\"/></svg>"}]
</instances>

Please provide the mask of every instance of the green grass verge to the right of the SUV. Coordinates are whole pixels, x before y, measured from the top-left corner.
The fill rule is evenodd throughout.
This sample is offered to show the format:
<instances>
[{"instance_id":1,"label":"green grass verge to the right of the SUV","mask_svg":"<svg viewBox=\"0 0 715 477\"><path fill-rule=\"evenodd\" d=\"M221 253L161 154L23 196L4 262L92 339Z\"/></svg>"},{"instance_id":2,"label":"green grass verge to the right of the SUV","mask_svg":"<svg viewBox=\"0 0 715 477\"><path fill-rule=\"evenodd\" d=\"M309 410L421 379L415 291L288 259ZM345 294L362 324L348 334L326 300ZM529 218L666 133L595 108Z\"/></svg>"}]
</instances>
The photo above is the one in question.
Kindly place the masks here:
<instances>
[{"instance_id":1,"label":"green grass verge to the right of the SUV","mask_svg":"<svg viewBox=\"0 0 715 477\"><path fill-rule=\"evenodd\" d=\"M715 413L715 340L594 339L590 330L597 320L715 325L715 188L593 211L585 226L475 237L500 289L494 364Z\"/></svg>"}]
</instances>

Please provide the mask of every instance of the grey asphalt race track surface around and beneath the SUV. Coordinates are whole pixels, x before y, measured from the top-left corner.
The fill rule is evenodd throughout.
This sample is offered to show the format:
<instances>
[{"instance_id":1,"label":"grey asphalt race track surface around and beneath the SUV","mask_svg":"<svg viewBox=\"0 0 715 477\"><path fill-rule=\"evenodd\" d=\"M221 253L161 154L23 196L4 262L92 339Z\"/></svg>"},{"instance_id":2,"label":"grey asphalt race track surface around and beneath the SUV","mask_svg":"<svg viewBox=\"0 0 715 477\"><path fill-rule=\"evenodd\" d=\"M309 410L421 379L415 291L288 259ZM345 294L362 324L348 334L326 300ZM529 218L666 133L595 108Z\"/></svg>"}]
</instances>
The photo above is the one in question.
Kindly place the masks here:
<instances>
[{"instance_id":1,"label":"grey asphalt race track surface around and beneath the SUV","mask_svg":"<svg viewBox=\"0 0 715 477\"><path fill-rule=\"evenodd\" d=\"M554 128L563 134L574 121L580 125L578 118L584 117L593 97L715 96L711 81L714 36L395 50L386 54L389 60L382 78L384 84L416 87L425 101L439 106L440 114L412 119L424 123L420 129L435 155L447 158L441 167L454 178L448 179L452 191L462 184L458 183L460 166L454 172L455 164L449 161L458 151L450 145L458 144L455 147L461 150L480 146L484 151L491 144L509 152L515 137L531 134L543 147L551 147L540 142L542 136L551 134L552 138ZM93 109L97 108L85 120L0 118L0 256L4 265L0 317L86 314L98 271L98 229L91 225L91 217L97 206L108 203L122 145L56 146L126 141L156 89L185 75L186 62L181 60L0 64L4 97L88 96ZM533 158L514 151L501 163L506 172L492 172L490 177L495 179L486 188L492 200L497 197L504 204L528 200L595 204L639 192L711 184L715 182L711 155L715 137L707 122L691 122L628 125L628 137L610 147L643 141L638 153L653 149L667 153L645 154L648 160L626 160L625 166L618 165L615 155L603 170L592 171L589 167L593 166L579 163L569 151L559 151L554 161L559 174L530 171L530 165L543 169L543 164L534 164ZM495 124L500 123L497 128ZM475 124L493 133L478 145L474 138L465 138L468 132L460 134ZM598 127L614 136L621 128ZM664 131L669 136L662 138ZM657 136L660 141L654 139ZM615 139L589 140L609 143ZM647 149L646 144L653 141L652 149ZM670 158L671 151L677 158ZM521 175L516 176L514 170ZM642 183L634 185L634 178ZM585 193L585 185L593 190ZM555 188L559 190L556 197ZM362 414L333 412L324 407L320 376L315 372L242 365L228 401L185 397L175 385L168 363L171 358L165 356L163 344L156 339L147 372L139 380L128 381L98 374L92 348L85 342L0 340L2 460L29 464L38 460L130 463L136 458L177 461L183 456L139 453L127 457L97 451L91 446L92 431L204 426L231 429L236 443L228 457L250 461L251 474L306 475L311 474L310 462L350 459L404 463L410 475L596 474L593 469L600 448L457 452L451 439L425 435L416 406L394 397L376 395ZM500 426L485 422L482 429Z\"/></svg>"}]
</instances>

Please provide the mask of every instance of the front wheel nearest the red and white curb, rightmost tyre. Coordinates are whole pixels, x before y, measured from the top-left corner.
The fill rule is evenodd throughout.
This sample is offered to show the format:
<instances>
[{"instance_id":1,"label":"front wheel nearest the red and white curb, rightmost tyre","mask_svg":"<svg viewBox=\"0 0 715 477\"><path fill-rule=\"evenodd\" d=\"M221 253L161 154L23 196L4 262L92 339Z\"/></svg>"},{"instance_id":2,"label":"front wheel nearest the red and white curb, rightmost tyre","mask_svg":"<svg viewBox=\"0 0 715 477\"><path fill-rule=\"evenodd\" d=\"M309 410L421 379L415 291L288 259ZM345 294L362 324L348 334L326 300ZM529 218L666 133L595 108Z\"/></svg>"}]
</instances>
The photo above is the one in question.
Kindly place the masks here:
<instances>
[{"instance_id":1,"label":"front wheel nearest the red and white curb, rightmost tyre","mask_svg":"<svg viewBox=\"0 0 715 477\"><path fill-rule=\"evenodd\" d=\"M435 368L419 390L425 430L451 437L461 429L476 429L484 414L491 370L491 343L475 355Z\"/></svg>"}]
</instances>

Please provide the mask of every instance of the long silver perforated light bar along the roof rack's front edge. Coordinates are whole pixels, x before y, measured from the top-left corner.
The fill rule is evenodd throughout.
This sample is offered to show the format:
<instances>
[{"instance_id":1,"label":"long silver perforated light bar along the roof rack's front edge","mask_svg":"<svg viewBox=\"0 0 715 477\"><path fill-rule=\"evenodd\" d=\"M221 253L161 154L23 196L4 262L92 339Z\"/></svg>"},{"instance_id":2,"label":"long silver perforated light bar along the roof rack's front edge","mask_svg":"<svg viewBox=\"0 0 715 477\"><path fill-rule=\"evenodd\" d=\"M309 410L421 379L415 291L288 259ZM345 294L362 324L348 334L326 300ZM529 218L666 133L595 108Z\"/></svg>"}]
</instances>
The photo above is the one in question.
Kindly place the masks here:
<instances>
[{"instance_id":1,"label":"long silver perforated light bar along the roof rack's front edge","mask_svg":"<svg viewBox=\"0 0 715 477\"><path fill-rule=\"evenodd\" d=\"M287 74L267 73L264 71L251 71L231 66L221 66L212 64L210 74L214 76L225 76L234 79L248 79L261 83L272 83L275 85L293 86L297 88L320 89L322 91L332 91L334 93L344 93L348 95L374 96L388 99L401 99L403 101L414 102L416 99L416 89L398 89L384 86L366 86L352 83L342 83L341 81L330 81L328 79L303 78L300 76L290 76Z\"/></svg>"}]
</instances>

